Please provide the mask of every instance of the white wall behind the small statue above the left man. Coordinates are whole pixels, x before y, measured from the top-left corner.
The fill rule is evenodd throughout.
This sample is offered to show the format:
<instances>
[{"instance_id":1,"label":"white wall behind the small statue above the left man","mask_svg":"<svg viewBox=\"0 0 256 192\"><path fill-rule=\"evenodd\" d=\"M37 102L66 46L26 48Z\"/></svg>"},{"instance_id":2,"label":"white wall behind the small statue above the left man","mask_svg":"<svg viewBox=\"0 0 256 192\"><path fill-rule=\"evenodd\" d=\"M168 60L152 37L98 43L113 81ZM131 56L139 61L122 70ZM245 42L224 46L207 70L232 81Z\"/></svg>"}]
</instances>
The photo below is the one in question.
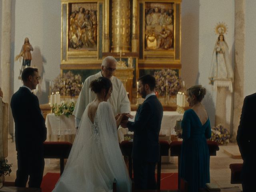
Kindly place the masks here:
<instances>
[{"instance_id":1,"label":"white wall behind the small statue above the left man","mask_svg":"<svg viewBox=\"0 0 256 192\"><path fill-rule=\"evenodd\" d=\"M41 92L38 92L40 104L48 102L49 81L60 73L60 35L61 1L60 0L16 0L15 30L12 45L14 55L18 55L28 37L34 51L31 66L36 65L41 80ZM20 62L14 62L14 92L22 85L18 80Z\"/></svg>"}]
</instances>

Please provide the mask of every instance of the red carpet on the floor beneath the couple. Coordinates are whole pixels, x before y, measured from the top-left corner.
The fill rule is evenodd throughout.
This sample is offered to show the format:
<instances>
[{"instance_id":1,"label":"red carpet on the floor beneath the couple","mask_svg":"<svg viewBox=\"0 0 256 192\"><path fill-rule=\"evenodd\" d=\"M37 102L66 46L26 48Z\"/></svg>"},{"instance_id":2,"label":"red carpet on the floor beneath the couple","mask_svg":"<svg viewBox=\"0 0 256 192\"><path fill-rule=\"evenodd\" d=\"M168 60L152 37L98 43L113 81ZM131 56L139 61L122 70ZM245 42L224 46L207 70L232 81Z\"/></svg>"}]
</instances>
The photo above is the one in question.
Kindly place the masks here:
<instances>
[{"instance_id":1,"label":"red carpet on the floor beneath the couple","mask_svg":"<svg viewBox=\"0 0 256 192\"><path fill-rule=\"evenodd\" d=\"M60 177L59 173L46 173L42 180L42 192L51 192ZM161 173L161 189L178 189L178 173Z\"/></svg>"}]
</instances>

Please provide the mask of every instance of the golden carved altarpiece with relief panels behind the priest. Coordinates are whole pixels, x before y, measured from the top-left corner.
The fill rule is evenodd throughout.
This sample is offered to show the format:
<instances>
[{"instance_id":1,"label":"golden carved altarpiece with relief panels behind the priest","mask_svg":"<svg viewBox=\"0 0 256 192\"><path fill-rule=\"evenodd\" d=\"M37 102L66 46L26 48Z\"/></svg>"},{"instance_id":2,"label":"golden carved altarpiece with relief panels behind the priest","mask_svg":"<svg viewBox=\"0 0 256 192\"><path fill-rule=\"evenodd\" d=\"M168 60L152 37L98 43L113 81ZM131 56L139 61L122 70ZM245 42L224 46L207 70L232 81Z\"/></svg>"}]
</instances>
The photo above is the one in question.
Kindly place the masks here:
<instances>
[{"instance_id":1,"label":"golden carved altarpiece with relief panels behind the priest","mask_svg":"<svg viewBox=\"0 0 256 192\"><path fill-rule=\"evenodd\" d=\"M62 0L62 72L100 71L102 59L118 60L115 72L136 104L139 76L181 68L181 0Z\"/></svg>"}]
</instances>

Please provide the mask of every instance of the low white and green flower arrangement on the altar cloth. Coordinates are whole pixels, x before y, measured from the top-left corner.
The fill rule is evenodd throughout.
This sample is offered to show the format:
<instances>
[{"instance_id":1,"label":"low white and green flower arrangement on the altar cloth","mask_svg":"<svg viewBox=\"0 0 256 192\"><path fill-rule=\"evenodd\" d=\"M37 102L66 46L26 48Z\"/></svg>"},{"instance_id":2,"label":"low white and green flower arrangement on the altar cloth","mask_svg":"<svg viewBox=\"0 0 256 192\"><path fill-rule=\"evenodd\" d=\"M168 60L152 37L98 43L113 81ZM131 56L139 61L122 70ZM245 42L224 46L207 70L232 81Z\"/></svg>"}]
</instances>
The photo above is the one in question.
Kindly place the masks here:
<instances>
[{"instance_id":1,"label":"low white and green flower arrangement on the altar cloth","mask_svg":"<svg viewBox=\"0 0 256 192\"><path fill-rule=\"evenodd\" d=\"M69 117L72 115L74 109L76 106L76 102L73 100L70 100L69 102L60 102L60 104L54 104L52 106L52 112L55 114L55 116L65 115L66 117Z\"/></svg>"}]
</instances>

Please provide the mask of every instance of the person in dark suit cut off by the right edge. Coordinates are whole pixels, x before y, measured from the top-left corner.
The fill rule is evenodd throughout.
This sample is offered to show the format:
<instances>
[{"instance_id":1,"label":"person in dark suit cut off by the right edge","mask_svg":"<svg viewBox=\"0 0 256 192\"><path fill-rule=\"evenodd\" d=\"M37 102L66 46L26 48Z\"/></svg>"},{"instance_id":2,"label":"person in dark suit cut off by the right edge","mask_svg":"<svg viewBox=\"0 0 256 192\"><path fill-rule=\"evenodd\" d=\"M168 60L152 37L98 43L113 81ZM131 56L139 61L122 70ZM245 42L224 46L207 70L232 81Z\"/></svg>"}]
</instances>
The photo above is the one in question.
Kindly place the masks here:
<instances>
[{"instance_id":1,"label":"person in dark suit cut off by the right edge","mask_svg":"<svg viewBox=\"0 0 256 192\"><path fill-rule=\"evenodd\" d=\"M256 128L255 128L256 93L246 96L237 131L237 144L244 160L242 167L243 192L255 191L256 172Z\"/></svg>"}]
</instances>

